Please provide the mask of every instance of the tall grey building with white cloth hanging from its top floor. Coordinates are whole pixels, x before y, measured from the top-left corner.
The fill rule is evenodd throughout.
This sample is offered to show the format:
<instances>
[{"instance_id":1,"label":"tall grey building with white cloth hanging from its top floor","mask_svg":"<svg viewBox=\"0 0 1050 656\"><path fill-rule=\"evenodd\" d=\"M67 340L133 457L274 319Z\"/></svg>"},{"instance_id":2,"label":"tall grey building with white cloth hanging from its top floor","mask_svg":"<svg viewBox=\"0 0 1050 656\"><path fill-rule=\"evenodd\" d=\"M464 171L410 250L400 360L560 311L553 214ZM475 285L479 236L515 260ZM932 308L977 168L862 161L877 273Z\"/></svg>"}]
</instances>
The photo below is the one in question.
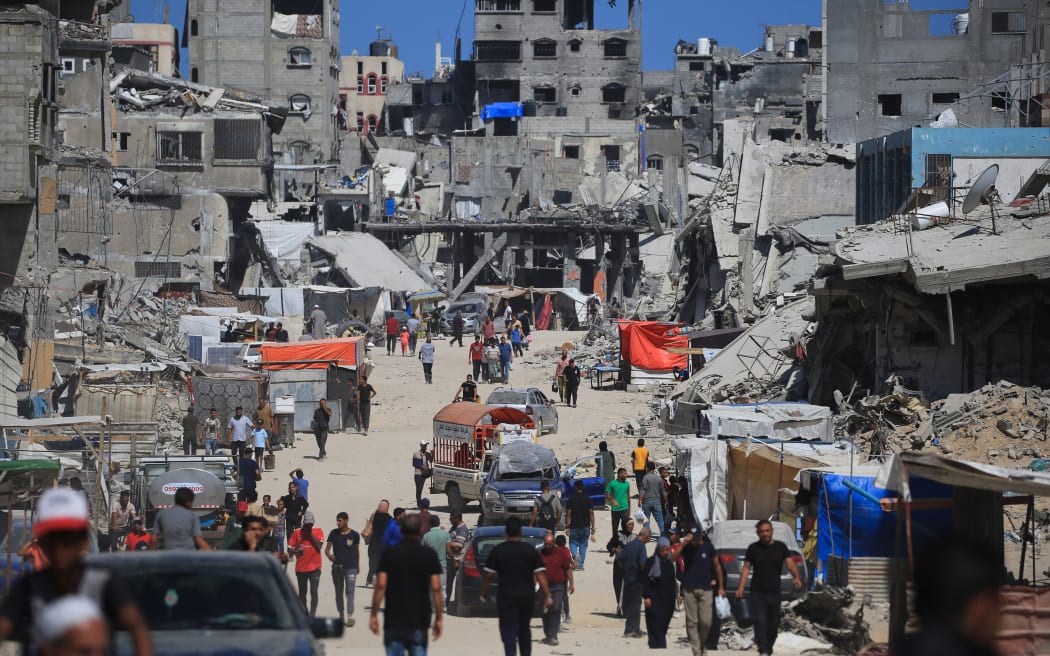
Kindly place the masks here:
<instances>
[{"instance_id":1,"label":"tall grey building with white cloth hanging from its top floor","mask_svg":"<svg viewBox=\"0 0 1050 656\"><path fill-rule=\"evenodd\" d=\"M312 200L316 167L339 160L338 1L190 0L183 45L190 82L288 106L273 149L278 198Z\"/></svg>"}]
</instances>

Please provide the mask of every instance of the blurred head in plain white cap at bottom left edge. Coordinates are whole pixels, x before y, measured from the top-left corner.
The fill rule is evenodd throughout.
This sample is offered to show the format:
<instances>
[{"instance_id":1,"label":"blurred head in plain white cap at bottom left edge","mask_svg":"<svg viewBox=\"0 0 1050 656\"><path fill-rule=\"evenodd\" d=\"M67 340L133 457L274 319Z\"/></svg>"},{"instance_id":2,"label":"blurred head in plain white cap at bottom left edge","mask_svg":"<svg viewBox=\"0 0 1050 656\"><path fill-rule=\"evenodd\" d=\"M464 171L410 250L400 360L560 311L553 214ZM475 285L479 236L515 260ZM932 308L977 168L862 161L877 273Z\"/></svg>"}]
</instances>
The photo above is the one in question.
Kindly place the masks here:
<instances>
[{"instance_id":1,"label":"blurred head in plain white cap at bottom left edge","mask_svg":"<svg viewBox=\"0 0 1050 656\"><path fill-rule=\"evenodd\" d=\"M81 595L45 606L35 630L42 656L103 656L109 648L109 627L99 605Z\"/></svg>"}]
</instances>

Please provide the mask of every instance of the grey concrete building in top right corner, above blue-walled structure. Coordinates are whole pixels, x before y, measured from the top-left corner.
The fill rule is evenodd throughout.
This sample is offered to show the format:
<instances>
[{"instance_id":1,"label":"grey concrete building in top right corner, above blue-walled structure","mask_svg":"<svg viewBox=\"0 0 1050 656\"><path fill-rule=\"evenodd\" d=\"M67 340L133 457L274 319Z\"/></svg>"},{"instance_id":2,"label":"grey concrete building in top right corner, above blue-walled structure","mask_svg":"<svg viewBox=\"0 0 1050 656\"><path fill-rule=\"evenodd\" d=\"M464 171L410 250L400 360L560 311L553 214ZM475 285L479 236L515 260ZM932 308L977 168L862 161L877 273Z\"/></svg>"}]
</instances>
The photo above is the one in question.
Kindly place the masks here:
<instances>
[{"instance_id":1,"label":"grey concrete building in top right corner, above blue-walled structure","mask_svg":"<svg viewBox=\"0 0 1050 656\"><path fill-rule=\"evenodd\" d=\"M824 120L832 143L857 143L951 109L969 127L1037 127L1047 90L1050 8L1023 0L824 0Z\"/></svg>"}]
</instances>

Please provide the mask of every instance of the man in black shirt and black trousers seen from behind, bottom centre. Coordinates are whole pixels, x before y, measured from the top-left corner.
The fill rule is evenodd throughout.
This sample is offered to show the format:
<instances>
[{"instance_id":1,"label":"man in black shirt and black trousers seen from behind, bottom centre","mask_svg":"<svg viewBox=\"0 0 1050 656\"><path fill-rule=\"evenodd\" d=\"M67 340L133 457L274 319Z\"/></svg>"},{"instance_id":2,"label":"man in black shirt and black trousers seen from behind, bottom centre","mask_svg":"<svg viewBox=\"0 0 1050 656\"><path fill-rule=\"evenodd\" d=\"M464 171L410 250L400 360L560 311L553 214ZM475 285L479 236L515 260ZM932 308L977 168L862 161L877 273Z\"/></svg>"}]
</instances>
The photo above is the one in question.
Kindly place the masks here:
<instances>
[{"instance_id":1,"label":"man in black shirt and black trousers seen from behind, bottom centre","mask_svg":"<svg viewBox=\"0 0 1050 656\"><path fill-rule=\"evenodd\" d=\"M496 545L485 560L481 598L484 599L488 594L492 576L499 575L500 587L496 593L496 604L503 652L507 656L513 656L521 650L522 656L531 656L532 632L529 631L528 623L532 618L533 581L543 589L544 608L553 604L547 587L547 568L537 550L522 542L521 520L507 520L504 535L506 542Z\"/></svg>"}]
</instances>

